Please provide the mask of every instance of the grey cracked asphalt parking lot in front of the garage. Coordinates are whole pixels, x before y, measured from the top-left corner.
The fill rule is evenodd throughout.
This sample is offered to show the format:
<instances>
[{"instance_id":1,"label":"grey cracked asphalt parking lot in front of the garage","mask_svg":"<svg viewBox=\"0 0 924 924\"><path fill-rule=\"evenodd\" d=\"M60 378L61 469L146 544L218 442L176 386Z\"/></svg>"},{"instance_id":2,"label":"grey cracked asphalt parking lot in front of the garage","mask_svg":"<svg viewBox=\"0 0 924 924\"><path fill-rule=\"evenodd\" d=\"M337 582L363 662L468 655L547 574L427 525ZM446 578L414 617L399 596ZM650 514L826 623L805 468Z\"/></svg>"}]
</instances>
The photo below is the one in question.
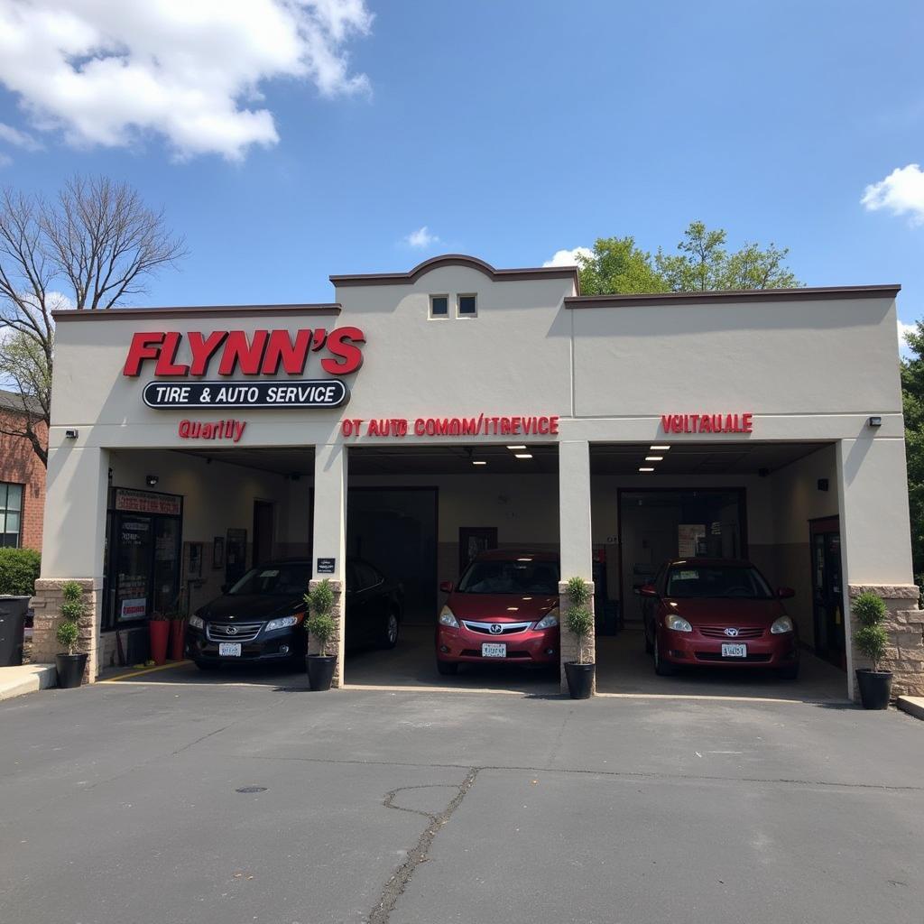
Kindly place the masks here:
<instances>
[{"instance_id":1,"label":"grey cracked asphalt parking lot in front of the garage","mask_svg":"<svg viewBox=\"0 0 924 924\"><path fill-rule=\"evenodd\" d=\"M0 704L4 924L924 921L901 713L157 676Z\"/></svg>"}]
</instances>

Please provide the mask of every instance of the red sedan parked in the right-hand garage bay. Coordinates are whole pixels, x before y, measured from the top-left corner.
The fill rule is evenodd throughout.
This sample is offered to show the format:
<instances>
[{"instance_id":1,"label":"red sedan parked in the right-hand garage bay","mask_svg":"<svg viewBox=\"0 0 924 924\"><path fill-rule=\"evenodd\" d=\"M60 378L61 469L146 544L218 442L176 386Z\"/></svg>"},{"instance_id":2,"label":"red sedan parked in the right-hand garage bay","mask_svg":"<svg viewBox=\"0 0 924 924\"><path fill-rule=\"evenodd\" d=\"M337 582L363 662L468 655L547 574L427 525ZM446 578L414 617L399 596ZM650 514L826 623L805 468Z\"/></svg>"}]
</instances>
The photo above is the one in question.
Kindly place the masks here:
<instances>
[{"instance_id":1,"label":"red sedan parked in the right-hand garage bay","mask_svg":"<svg viewBox=\"0 0 924 924\"><path fill-rule=\"evenodd\" d=\"M663 565L639 590L645 650L658 675L678 667L765 667L787 679L799 671L796 625L782 598L750 562L684 558Z\"/></svg>"}]
</instances>

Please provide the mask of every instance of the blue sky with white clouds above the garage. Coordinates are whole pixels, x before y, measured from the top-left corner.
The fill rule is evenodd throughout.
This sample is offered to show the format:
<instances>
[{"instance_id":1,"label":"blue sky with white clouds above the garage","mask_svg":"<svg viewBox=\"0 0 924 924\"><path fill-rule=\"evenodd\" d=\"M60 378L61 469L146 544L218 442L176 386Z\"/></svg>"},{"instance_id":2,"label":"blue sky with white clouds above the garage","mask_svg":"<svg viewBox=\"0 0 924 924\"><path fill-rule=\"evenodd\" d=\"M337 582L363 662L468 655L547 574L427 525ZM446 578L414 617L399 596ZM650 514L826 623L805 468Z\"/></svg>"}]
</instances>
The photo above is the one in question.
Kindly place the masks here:
<instances>
[{"instance_id":1,"label":"blue sky with white clouds above the garage","mask_svg":"<svg viewBox=\"0 0 924 924\"><path fill-rule=\"evenodd\" d=\"M332 273L672 248L701 219L924 316L919 2L199 3L190 31L178 0L0 0L0 182L99 172L163 204L189 255L143 303L322 301ZM68 90L67 55L98 79Z\"/></svg>"}]
</instances>

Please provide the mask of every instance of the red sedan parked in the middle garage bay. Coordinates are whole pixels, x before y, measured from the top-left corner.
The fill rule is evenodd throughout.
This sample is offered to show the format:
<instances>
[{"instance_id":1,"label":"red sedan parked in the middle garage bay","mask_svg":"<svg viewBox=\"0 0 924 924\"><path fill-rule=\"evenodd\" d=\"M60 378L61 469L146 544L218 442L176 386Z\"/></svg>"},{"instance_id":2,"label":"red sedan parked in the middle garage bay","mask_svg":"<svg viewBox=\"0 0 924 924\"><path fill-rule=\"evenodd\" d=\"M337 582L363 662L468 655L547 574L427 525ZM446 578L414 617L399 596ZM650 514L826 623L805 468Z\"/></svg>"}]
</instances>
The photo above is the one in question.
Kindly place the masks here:
<instances>
[{"instance_id":1,"label":"red sedan parked in the middle garage bay","mask_svg":"<svg viewBox=\"0 0 924 924\"><path fill-rule=\"evenodd\" d=\"M436 668L461 663L558 663L558 556L495 549L444 583L449 598L436 626Z\"/></svg>"}]
</instances>

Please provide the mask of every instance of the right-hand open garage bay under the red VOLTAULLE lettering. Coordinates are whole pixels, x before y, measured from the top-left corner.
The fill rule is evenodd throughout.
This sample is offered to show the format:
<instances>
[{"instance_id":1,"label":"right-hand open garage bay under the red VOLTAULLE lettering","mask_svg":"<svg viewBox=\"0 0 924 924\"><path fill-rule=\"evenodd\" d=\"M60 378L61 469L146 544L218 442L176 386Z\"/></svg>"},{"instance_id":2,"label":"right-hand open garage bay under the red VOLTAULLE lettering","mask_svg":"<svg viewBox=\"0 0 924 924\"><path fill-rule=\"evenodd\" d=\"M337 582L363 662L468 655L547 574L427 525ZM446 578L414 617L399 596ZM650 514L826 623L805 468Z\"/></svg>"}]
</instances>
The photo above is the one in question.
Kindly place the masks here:
<instances>
[{"instance_id":1,"label":"right-hand open garage bay under the red VOLTAULLE lettering","mask_svg":"<svg viewBox=\"0 0 924 924\"><path fill-rule=\"evenodd\" d=\"M833 637L815 546L839 545L812 525L837 523L833 444L596 444L590 457L601 692L844 698L845 674L816 656ZM664 629L673 613L695 614L689 632ZM789 635L771 633L781 614ZM786 638L784 663L768 643Z\"/></svg>"}]
</instances>

